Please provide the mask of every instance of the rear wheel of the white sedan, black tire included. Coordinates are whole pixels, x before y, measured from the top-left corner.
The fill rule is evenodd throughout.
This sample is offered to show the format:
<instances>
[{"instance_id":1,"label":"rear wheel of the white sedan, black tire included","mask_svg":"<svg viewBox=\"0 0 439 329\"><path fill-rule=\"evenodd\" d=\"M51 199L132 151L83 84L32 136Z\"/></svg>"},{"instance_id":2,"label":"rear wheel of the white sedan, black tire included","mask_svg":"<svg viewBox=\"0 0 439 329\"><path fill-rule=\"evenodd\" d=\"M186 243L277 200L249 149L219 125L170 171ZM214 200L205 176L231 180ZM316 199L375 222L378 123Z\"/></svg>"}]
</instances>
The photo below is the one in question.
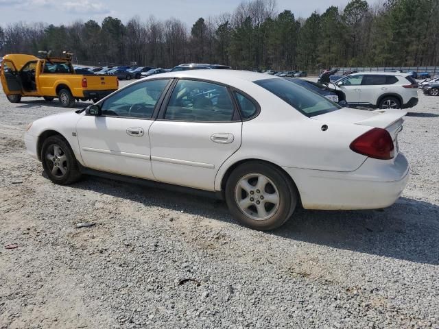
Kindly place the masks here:
<instances>
[{"instance_id":1,"label":"rear wheel of the white sedan, black tire included","mask_svg":"<svg viewBox=\"0 0 439 329\"><path fill-rule=\"evenodd\" d=\"M278 199L277 205L270 204L266 200L262 202L265 214L268 212L267 217L262 219L252 218L252 215L256 217L259 215L259 210L256 207L261 206L260 199L263 199L263 194L265 192L270 193L270 191L263 191L261 193L259 189L256 189L259 177L252 178L252 175L262 175L268 178L267 185L263 185L264 190L271 188L271 192L274 191L274 194L270 195L276 195ZM240 182L246 180L246 182L251 183L252 179L256 179L256 181L254 181L254 185L250 184L252 186L251 191L244 191L244 188L240 187ZM243 193L245 194L244 196ZM225 196L227 206L235 219L248 228L262 231L274 230L274 228L282 226L291 217L298 203L296 186L294 186L285 173L272 164L259 161L245 162L233 170L226 182ZM246 210L242 210L238 205L238 199L241 197L244 199L248 197L252 201L252 204ZM253 200L251 197L253 197ZM258 201L259 203L255 204ZM267 204L269 208L266 207ZM270 212L272 213L270 214Z\"/></svg>"}]
</instances>

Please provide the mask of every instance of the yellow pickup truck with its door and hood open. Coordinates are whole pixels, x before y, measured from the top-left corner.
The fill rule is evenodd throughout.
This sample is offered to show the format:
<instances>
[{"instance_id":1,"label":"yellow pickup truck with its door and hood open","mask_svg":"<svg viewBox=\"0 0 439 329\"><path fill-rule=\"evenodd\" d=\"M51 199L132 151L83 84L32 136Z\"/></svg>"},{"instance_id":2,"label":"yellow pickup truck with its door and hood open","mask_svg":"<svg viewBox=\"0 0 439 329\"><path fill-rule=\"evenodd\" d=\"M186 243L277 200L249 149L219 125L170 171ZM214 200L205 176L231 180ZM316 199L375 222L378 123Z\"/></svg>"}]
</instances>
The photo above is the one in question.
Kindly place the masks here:
<instances>
[{"instance_id":1,"label":"yellow pickup truck with its door and hood open","mask_svg":"<svg viewBox=\"0 0 439 329\"><path fill-rule=\"evenodd\" d=\"M0 79L12 103L19 103L21 97L43 97L46 101L58 97L65 108L72 107L75 100L98 101L119 88L116 76L76 74L69 58L22 53L3 56Z\"/></svg>"}]
</instances>

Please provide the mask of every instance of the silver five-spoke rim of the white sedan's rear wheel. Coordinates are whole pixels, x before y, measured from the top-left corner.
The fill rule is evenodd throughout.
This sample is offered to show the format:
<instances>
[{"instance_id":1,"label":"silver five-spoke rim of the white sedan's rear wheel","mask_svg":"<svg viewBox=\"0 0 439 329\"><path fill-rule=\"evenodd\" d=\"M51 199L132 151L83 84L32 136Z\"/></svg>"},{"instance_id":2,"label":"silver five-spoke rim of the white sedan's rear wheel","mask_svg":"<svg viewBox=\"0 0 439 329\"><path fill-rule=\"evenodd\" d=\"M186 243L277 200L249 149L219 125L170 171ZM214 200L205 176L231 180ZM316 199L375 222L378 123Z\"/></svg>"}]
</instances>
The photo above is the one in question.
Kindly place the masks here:
<instances>
[{"instance_id":1,"label":"silver five-spoke rim of the white sedan's rear wheel","mask_svg":"<svg viewBox=\"0 0 439 329\"><path fill-rule=\"evenodd\" d=\"M270 178L260 173L249 173L235 187L235 202L244 215L263 221L276 213L280 196Z\"/></svg>"}]
</instances>

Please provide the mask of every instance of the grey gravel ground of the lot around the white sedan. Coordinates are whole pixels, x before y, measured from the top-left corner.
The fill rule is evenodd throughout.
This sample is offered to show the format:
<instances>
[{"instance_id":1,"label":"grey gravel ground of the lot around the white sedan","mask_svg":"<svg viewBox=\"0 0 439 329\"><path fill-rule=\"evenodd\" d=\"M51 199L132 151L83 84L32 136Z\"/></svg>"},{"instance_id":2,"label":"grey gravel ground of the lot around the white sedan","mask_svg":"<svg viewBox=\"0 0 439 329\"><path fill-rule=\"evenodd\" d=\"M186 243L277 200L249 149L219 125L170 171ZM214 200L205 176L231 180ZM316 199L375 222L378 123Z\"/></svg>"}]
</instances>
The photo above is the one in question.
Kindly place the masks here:
<instances>
[{"instance_id":1,"label":"grey gravel ground of the lot around the white sedan","mask_svg":"<svg viewBox=\"0 0 439 329\"><path fill-rule=\"evenodd\" d=\"M394 206L257 232L211 199L51 184L23 132L64 109L1 93L0 328L439 328L439 97L419 97Z\"/></svg>"}]
</instances>

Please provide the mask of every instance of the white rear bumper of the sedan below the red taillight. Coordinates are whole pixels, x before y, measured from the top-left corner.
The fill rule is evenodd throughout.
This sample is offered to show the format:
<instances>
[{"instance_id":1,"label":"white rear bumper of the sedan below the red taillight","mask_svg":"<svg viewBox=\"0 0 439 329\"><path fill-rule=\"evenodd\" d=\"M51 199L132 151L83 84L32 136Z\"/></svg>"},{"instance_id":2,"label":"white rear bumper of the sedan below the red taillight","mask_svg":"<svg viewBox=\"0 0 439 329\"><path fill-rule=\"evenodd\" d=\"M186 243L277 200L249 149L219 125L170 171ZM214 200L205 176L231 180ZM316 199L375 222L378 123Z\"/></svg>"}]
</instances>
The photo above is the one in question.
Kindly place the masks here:
<instances>
[{"instance_id":1,"label":"white rear bumper of the sedan below the red taillight","mask_svg":"<svg viewBox=\"0 0 439 329\"><path fill-rule=\"evenodd\" d=\"M392 160L368 158L351 172L284 168L291 175L306 209L378 209L394 204L409 179L403 154Z\"/></svg>"}]
</instances>

